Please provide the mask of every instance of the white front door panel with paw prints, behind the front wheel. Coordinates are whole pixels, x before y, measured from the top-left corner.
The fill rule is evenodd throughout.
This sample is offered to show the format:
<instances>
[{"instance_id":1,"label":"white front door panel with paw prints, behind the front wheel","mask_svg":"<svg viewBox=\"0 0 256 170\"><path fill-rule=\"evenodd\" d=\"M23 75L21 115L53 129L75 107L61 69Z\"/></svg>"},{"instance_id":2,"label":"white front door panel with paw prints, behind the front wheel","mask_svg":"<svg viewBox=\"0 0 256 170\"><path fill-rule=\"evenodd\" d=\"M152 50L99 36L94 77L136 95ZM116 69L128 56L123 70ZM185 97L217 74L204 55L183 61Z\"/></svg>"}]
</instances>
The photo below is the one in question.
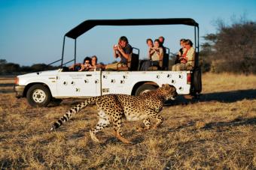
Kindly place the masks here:
<instances>
[{"instance_id":1,"label":"white front door panel with paw prints, behind the front wheel","mask_svg":"<svg viewBox=\"0 0 256 170\"><path fill-rule=\"evenodd\" d=\"M59 72L57 97L93 97L101 95L101 72Z\"/></svg>"}]
</instances>

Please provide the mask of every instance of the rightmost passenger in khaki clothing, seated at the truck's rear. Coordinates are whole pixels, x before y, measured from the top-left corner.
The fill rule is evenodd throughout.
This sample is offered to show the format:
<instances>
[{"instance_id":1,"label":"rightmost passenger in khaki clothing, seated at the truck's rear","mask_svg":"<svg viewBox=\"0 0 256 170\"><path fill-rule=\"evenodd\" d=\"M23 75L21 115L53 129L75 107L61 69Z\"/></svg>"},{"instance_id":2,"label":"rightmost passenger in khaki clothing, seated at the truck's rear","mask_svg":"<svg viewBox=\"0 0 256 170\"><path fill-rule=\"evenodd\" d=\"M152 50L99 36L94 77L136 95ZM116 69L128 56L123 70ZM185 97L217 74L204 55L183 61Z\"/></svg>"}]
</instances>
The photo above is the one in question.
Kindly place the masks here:
<instances>
[{"instance_id":1,"label":"rightmost passenger in khaki clothing, seated at the truck's rear","mask_svg":"<svg viewBox=\"0 0 256 170\"><path fill-rule=\"evenodd\" d=\"M195 58L195 49L193 48L193 43L191 40L184 40L185 50L181 57L178 58L180 63L174 64L172 66L172 71L179 70L193 70L194 68L194 58Z\"/></svg>"}]
</instances>

